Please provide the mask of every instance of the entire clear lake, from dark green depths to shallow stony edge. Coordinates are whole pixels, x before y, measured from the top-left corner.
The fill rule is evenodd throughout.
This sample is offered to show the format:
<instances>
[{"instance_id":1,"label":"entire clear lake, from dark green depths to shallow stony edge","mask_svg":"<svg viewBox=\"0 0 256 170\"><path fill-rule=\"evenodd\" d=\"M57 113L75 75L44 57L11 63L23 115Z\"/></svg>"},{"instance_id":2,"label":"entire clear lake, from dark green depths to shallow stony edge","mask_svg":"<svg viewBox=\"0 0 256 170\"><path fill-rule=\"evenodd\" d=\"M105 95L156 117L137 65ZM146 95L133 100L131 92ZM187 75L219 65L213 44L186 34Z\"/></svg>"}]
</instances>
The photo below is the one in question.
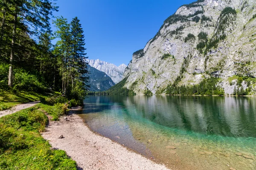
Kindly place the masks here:
<instances>
[{"instance_id":1,"label":"entire clear lake, from dark green depths to shallow stony edge","mask_svg":"<svg viewBox=\"0 0 256 170\"><path fill-rule=\"evenodd\" d=\"M173 170L255 170L256 98L89 96L91 130Z\"/></svg>"}]
</instances>

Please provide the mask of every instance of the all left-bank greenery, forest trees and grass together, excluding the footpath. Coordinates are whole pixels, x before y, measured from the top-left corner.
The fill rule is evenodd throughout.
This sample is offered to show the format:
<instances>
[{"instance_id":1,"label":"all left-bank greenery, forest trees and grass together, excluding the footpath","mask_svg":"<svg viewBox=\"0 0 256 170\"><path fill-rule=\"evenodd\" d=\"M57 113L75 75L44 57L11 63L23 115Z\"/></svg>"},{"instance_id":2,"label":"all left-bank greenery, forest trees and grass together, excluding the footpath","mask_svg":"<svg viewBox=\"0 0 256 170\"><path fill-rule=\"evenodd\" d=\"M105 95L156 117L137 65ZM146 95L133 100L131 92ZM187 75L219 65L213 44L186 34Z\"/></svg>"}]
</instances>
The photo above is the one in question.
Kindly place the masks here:
<instances>
[{"instance_id":1,"label":"all left-bank greenery, forest trees and grass together, excluding the footpath","mask_svg":"<svg viewBox=\"0 0 256 170\"><path fill-rule=\"evenodd\" d=\"M52 149L40 132L48 123L45 113L58 120L69 107L83 105L87 94L80 20L54 17L53 0L3 0L0 11L0 111L41 101L0 118L0 170L76 170L76 162Z\"/></svg>"}]
</instances>

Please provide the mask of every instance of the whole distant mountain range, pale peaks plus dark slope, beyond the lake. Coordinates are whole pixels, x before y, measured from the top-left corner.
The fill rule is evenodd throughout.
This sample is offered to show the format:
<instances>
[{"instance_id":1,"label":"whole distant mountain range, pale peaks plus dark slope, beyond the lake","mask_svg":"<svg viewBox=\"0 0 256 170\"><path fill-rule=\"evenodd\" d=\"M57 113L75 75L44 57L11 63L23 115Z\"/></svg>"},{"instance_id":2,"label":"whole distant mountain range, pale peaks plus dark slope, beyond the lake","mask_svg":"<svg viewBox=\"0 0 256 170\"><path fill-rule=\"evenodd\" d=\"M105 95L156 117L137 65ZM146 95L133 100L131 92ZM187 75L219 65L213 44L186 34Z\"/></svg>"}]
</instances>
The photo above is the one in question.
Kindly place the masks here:
<instances>
[{"instance_id":1,"label":"whole distant mountain range, pale peaks plus dark slope, beyond the lake","mask_svg":"<svg viewBox=\"0 0 256 170\"><path fill-rule=\"evenodd\" d=\"M99 59L87 59L87 65L90 72L89 85L90 91L106 91L123 78L123 73L127 67L121 64L118 67L109 62L101 61Z\"/></svg>"}]
</instances>

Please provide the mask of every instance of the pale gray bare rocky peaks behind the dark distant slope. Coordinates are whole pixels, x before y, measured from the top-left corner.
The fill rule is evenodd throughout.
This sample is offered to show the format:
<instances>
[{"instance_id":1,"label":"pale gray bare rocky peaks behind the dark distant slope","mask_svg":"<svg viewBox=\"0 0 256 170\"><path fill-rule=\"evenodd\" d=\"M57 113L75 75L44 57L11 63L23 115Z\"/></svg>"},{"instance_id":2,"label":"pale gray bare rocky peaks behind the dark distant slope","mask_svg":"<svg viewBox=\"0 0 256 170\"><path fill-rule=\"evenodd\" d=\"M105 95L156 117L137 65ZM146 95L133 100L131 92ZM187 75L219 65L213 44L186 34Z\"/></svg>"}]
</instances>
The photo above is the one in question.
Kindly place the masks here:
<instances>
[{"instance_id":1,"label":"pale gray bare rocky peaks behind the dark distant slope","mask_svg":"<svg viewBox=\"0 0 256 170\"><path fill-rule=\"evenodd\" d=\"M114 83L118 83L123 79L123 73L125 71L125 68L127 65L121 64L119 66L116 66L114 64L111 64L109 62L101 61L99 59L88 59L87 62L90 66L96 68L99 71L103 71L106 73Z\"/></svg>"}]
</instances>

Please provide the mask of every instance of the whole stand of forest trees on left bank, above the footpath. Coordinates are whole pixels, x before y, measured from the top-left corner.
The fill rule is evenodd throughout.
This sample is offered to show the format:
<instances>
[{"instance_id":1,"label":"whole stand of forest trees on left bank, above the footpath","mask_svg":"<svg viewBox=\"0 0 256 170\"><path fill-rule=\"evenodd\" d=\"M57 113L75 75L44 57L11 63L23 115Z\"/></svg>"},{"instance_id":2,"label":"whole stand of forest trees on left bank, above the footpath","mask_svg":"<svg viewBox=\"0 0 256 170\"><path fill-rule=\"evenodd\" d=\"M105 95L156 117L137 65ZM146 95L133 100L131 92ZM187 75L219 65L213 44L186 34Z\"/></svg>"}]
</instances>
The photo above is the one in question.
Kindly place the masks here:
<instances>
[{"instance_id":1,"label":"whole stand of forest trees on left bank, above the footpath","mask_svg":"<svg viewBox=\"0 0 256 170\"><path fill-rule=\"evenodd\" d=\"M50 17L58 7L51 0L4 0L0 10L0 93L59 91L68 100L82 103L88 71L79 19L68 23L64 17L55 17L56 31L52 32Z\"/></svg>"}]
</instances>

